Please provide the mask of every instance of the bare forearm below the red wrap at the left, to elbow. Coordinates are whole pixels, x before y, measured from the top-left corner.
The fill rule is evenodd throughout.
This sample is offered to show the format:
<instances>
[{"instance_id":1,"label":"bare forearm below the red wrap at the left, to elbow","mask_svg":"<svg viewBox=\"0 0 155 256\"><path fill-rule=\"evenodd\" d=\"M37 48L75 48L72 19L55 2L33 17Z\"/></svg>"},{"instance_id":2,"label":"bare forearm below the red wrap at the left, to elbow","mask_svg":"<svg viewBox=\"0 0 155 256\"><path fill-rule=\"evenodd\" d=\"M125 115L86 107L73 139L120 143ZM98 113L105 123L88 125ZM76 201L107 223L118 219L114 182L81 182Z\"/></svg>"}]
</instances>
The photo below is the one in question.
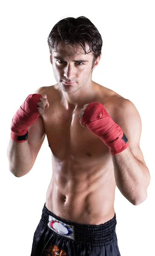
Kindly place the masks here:
<instances>
[{"instance_id":1,"label":"bare forearm below the red wrap at the left, to elbow","mask_svg":"<svg viewBox=\"0 0 155 256\"><path fill-rule=\"evenodd\" d=\"M9 170L16 177L26 175L32 169L32 153L27 140L17 143L10 138L7 157Z\"/></svg>"}]
</instances>

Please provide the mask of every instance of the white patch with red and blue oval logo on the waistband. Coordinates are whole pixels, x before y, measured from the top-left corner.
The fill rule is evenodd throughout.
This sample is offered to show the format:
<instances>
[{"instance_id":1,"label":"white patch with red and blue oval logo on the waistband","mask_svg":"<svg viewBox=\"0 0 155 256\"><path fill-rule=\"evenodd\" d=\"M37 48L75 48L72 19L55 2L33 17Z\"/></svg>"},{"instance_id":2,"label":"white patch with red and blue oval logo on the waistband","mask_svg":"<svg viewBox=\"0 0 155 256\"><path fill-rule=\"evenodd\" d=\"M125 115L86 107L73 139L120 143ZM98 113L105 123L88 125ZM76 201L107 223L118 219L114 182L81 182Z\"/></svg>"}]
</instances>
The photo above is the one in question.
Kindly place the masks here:
<instances>
[{"instance_id":1,"label":"white patch with red and blue oval logo on the waistband","mask_svg":"<svg viewBox=\"0 0 155 256\"><path fill-rule=\"evenodd\" d=\"M75 240L74 226L70 226L61 221L58 221L51 215L49 215L48 227L60 236L65 236L72 240Z\"/></svg>"}]
</instances>

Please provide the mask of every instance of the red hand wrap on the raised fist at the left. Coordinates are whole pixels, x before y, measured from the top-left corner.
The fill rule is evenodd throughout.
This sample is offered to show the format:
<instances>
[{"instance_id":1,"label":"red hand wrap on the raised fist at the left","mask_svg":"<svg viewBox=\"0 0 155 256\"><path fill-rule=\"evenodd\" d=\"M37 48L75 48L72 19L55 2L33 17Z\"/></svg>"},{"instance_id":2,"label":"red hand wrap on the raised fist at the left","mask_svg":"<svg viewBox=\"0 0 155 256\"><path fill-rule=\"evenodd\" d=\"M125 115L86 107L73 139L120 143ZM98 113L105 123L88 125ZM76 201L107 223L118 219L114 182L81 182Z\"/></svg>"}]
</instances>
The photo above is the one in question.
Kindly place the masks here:
<instances>
[{"instance_id":1,"label":"red hand wrap on the raised fist at the left","mask_svg":"<svg viewBox=\"0 0 155 256\"><path fill-rule=\"evenodd\" d=\"M26 141L19 140L18 136L25 135L28 127L31 126L40 115L37 103L43 98L41 94L30 94L13 116L11 122L11 139L17 143ZM38 106L39 107L39 106Z\"/></svg>"}]
</instances>

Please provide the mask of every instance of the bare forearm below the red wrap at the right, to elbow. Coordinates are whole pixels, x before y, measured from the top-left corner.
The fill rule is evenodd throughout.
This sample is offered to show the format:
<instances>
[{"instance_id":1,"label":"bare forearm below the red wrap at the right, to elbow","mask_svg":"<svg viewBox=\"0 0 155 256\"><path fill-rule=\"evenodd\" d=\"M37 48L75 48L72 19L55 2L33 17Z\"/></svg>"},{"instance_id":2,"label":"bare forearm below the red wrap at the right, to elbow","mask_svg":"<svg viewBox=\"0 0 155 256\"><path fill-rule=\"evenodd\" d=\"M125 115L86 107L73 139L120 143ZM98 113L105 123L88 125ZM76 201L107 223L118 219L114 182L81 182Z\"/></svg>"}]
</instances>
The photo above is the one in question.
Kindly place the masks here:
<instances>
[{"instance_id":1,"label":"bare forearm below the red wrap at the right, to elbow","mask_svg":"<svg viewBox=\"0 0 155 256\"><path fill-rule=\"evenodd\" d=\"M141 204L147 197L148 168L132 154L129 147L112 155L112 161L118 189L132 204Z\"/></svg>"}]
</instances>

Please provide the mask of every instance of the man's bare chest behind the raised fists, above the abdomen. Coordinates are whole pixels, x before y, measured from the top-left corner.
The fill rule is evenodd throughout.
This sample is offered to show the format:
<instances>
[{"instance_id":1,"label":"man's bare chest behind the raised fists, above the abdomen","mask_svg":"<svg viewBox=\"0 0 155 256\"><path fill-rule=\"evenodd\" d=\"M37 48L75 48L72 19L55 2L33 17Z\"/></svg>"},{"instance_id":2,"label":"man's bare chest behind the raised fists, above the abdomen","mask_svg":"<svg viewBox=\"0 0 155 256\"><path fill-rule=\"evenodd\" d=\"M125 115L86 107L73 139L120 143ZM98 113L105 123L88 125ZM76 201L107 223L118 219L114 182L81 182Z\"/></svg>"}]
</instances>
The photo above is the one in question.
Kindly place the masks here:
<instances>
[{"instance_id":1,"label":"man's bare chest behind the raised fists, above the abdomen","mask_svg":"<svg viewBox=\"0 0 155 256\"><path fill-rule=\"evenodd\" d=\"M103 103L106 111L114 118L112 105ZM91 159L103 163L104 158L110 157L109 149L87 127L80 124L79 113L80 109L70 111L58 104L52 104L46 109L43 122L49 147L59 161Z\"/></svg>"}]
</instances>

